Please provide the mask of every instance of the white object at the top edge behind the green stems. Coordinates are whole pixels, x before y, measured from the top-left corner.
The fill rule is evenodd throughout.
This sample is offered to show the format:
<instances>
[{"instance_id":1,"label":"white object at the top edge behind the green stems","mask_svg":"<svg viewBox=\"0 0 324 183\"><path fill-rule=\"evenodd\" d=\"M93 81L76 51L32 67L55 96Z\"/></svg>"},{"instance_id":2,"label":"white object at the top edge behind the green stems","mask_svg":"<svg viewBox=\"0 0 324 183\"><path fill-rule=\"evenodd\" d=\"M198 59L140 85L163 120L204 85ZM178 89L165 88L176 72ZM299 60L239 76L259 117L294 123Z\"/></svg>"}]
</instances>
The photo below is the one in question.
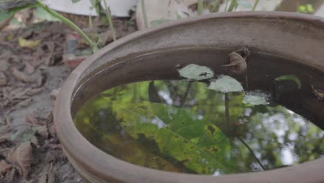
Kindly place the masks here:
<instances>
[{"instance_id":1,"label":"white object at the top edge behind the green stems","mask_svg":"<svg viewBox=\"0 0 324 183\"><path fill-rule=\"evenodd\" d=\"M75 15L97 16L96 10L90 10L90 0L80 0L72 3L71 0L42 0L49 8L60 12L67 12ZM136 6L138 0L105 0L111 10L111 15L116 17L129 17L128 11ZM102 2L102 7L105 4Z\"/></svg>"}]
</instances>

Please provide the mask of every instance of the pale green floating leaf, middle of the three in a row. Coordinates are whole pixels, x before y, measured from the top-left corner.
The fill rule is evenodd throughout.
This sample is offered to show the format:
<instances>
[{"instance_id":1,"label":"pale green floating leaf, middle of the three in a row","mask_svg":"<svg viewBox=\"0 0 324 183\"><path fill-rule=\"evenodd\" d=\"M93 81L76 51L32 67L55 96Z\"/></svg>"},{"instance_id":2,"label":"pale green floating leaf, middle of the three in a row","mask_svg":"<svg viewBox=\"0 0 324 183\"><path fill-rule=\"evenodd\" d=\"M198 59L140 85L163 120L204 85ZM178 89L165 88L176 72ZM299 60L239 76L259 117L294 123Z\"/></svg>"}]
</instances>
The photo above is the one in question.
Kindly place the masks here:
<instances>
[{"instance_id":1,"label":"pale green floating leaf, middle of the three in a row","mask_svg":"<svg viewBox=\"0 0 324 183\"><path fill-rule=\"evenodd\" d=\"M214 89L218 92L243 92L243 87L234 78L231 76L226 75L220 75L219 78L216 80L212 80L210 82L210 85L208 86L208 89Z\"/></svg>"}]
</instances>

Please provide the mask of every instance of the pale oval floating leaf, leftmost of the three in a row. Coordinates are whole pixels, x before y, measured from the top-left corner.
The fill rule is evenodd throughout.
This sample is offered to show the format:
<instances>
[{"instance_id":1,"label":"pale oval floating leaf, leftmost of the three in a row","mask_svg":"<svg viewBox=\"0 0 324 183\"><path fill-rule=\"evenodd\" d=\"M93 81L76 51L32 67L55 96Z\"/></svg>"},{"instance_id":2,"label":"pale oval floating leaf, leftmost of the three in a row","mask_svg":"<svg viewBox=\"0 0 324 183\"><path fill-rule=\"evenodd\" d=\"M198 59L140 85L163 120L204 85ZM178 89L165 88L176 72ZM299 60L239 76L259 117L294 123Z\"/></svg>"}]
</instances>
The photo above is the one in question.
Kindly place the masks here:
<instances>
[{"instance_id":1,"label":"pale oval floating leaf, leftmost of the three in a row","mask_svg":"<svg viewBox=\"0 0 324 183\"><path fill-rule=\"evenodd\" d=\"M179 70L180 76L192 80L205 80L214 77L214 71L206 66L188 64Z\"/></svg>"}]
</instances>

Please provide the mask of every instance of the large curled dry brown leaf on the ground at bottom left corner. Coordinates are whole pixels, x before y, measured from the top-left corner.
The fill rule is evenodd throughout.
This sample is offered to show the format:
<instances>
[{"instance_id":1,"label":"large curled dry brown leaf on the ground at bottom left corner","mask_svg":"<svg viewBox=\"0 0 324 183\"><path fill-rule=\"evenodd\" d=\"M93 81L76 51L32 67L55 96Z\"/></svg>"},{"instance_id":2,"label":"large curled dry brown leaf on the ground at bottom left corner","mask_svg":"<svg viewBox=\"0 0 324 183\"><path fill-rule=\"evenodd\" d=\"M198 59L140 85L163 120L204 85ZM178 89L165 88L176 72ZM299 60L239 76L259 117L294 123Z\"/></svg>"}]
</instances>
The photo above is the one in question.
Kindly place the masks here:
<instances>
[{"instance_id":1,"label":"large curled dry brown leaf on the ground at bottom left corner","mask_svg":"<svg viewBox=\"0 0 324 183\"><path fill-rule=\"evenodd\" d=\"M12 150L8 155L8 160L19 168L22 177L26 179L30 170L30 163L33 160L33 148L30 141L21 143L17 149Z\"/></svg>"}]
</instances>

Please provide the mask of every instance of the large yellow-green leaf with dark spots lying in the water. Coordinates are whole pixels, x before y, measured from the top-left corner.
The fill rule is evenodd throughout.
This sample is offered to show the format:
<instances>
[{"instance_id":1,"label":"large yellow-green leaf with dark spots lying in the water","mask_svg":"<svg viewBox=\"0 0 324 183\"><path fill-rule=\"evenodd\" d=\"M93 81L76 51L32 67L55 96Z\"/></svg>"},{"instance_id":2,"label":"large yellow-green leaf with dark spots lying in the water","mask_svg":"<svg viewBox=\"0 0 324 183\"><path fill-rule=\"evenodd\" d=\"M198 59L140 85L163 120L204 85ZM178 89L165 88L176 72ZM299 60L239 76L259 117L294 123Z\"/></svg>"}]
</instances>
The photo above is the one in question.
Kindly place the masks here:
<instances>
[{"instance_id":1,"label":"large yellow-green leaf with dark spots lying in the water","mask_svg":"<svg viewBox=\"0 0 324 183\"><path fill-rule=\"evenodd\" d=\"M116 119L129 135L155 141L163 157L172 157L196 173L233 173L231 143L217 126L201 116L160 103L113 102Z\"/></svg>"}]
</instances>

